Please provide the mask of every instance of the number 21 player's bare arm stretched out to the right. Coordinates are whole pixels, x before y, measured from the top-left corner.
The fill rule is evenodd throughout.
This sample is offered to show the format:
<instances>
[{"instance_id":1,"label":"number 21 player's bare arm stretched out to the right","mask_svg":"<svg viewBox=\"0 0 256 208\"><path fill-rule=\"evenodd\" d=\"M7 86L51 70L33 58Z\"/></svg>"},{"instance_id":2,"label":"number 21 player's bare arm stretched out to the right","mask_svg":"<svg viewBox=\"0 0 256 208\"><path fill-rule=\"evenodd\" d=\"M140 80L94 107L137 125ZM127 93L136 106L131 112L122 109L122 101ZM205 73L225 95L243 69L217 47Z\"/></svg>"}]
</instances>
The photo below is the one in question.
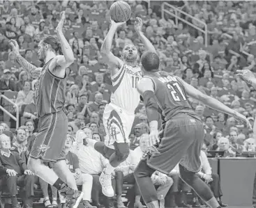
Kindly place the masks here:
<instances>
[{"instance_id":1,"label":"number 21 player's bare arm stretched out to the right","mask_svg":"<svg viewBox=\"0 0 256 208\"><path fill-rule=\"evenodd\" d=\"M181 80L181 79L180 79ZM188 96L197 99L199 102L202 102L206 106L209 106L211 109L215 109L217 111L227 113L229 115L232 115L234 118L237 118L239 120L243 120L246 122L246 125L251 129L251 125L249 120L246 118L246 116L242 115L241 113L230 109L228 106L225 106L222 102L218 101L218 99L214 99L213 97L210 97L208 95L204 95L204 93L201 93L199 90L194 88L193 86L190 86L190 84L186 83L185 81L182 81L183 86L185 87L186 93Z\"/></svg>"}]
</instances>

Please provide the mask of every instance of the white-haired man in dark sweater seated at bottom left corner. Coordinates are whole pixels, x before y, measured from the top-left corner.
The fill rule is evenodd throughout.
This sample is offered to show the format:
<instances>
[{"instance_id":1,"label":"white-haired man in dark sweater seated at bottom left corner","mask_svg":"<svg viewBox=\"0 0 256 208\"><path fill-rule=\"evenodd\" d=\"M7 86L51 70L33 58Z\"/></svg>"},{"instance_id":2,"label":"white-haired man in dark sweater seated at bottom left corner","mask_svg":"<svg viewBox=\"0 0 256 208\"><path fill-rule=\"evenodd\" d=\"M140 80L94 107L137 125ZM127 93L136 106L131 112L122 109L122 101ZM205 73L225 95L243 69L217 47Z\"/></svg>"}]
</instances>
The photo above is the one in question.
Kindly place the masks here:
<instances>
[{"instance_id":1,"label":"white-haired man in dark sweater seated at bottom left corner","mask_svg":"<svg viewBox=\"0 0 256 208\"><path fill-rule=\"evenodd\" d=\"M17 186L25 186L24 206L32 208L34 176L19 153L10 151L10 138L5 134L0 136L0 170L4 177L3 186L11 195L12 207L20 208L17 202Z\"/></svg>"}]
</instances>

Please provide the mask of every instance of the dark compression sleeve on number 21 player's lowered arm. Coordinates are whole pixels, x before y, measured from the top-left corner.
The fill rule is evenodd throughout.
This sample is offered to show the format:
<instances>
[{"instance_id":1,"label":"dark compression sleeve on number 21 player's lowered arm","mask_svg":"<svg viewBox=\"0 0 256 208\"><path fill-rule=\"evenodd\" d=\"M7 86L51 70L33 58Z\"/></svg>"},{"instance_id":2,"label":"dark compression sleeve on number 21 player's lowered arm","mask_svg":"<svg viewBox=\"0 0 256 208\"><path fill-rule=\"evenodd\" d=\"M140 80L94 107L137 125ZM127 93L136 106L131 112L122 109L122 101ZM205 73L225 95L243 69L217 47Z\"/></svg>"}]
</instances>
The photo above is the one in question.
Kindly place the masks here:
<instances>
[{"instance_id":1,"label":"dark compression sleeve on number 21 player's lowered arm","mask_svg":"<svg viewBox=\"0 0 256 208\"><path fill-rule=\"evenodd\" d=\"M149 122L152 120L158 120L158 103L154 98L154 93L151 90L147 90L143 93L142 97L146 106L146 115L149 119Z\"/></svg>"}]
</instances>

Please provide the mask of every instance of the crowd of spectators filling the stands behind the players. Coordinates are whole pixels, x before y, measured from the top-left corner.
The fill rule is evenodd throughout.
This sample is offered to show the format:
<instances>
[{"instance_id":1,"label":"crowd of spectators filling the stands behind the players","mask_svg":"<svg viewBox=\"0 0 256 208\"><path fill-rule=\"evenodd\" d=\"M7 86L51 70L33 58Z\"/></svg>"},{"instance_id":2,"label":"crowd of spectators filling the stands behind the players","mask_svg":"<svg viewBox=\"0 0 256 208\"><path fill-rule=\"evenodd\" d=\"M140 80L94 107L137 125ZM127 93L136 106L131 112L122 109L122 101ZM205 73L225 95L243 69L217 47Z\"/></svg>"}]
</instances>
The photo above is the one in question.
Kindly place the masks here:
<instances>
[{"instance_id":1,"label":"crowd of spectators filling the stands behind the players","mask_svg":"<svg viewBox=\"0 0 256 208\"><path fill-rule=\"evenodd\" d=\"M66 113L69 120L66 161L70 164L77 181L79 179L78 185L92 186L92 190L85 191L84 206L103 207L98 197L98 175L103 171L106 159L81 141L80 131L84 131L87 136L97 141L104 141L106 136L102 118L105 104L110 102L112 81L110 69L100 56L100 47L110 26L109 8L112 2L0 1L0 92L15 102L17 108L4 99L1 99L1 106L15 116L18 109L20 123L20 127L16 129L15 121L0 111L0 170L3 170L3 177L6 173L9 176L13 173L9 171L13 170L12 168L6 168L6 161L3 159L6 155L2 149L9 148L16 152L17 154L11 153L11 156L19 160L22 168L14 168L15 174L19 179L22 175L22 179L29 181L25 183L26 189L31 190L24 200L28 207L31 207L33 201L31 198L34 193L31 186L35 184L43 190L45 207L57 206L58 193L52 188L50 201L48 184L36 177L32 178L26 169L27 158L24 152L27 150L27 141L36 133L38 125L33 91L36 81L15 61L8 40L17 40L20 54L36 67L43 67L43 63L38 60L38 43L45 35L56 35L54 29L58 24L59 14L62 10L66 11L63 32L75 54L75 62L66 69ZM126 25L116 32L112 44L115 56L121 57L123 46L129 42L132 42L142 54L144 45L137 37L133 26L135 17L141 17L144 22L144 33L153 42L160 56L160 70L181 77L203 93L243 113L253 125L256 90L235 74L236 70L241 69L256 72L256 1L180 1L179 5L175 5L176 1L170 1L169 3L173 3L207 25L207 41L204 33L194 27L184 22L176 24L175 19L167 13L163 13L162 16L160 1L150 1L150 4L149 1L128 3L133 13ZM165 9L172 12L168 7ZM202 30L206 29L204 24L187 15L179 16ZM196 100L190 99L190 104L205 124L205 143L202 147L202 161L205 163L200 177L206 182L212 182L213 193L220 200L222 193L218 175L211 173L206 150L224 151L224 157L255 152L253 131L234 118L209 109ZM140 160L148 145L144 137L149 134L149 122L143 102L135 113L133 131L130 133L132 153L127 161L116 168L116 173L113 173L116 203L112 198L107 199L109 207L125 207L125 200L121 197L123 182L135 184L135 207L143 207L140 191L133 177L137 159ZM7 156L10 157L10 154ZM186 193L190 189L179 180L179 170L172 172L170 175L156 172L152 176L158 187L159 199L168 195L165 201L172 205L171 207L175 207L176 204L185 206ZM10 193L17 195L17 184L14 183L14 186L13 183L10 182L7 188ZM180 193L180 190L181 197L177 202L177 193ZM200 206L196 194L193 194L193 203Z\"/></svg>"}]
</instances>

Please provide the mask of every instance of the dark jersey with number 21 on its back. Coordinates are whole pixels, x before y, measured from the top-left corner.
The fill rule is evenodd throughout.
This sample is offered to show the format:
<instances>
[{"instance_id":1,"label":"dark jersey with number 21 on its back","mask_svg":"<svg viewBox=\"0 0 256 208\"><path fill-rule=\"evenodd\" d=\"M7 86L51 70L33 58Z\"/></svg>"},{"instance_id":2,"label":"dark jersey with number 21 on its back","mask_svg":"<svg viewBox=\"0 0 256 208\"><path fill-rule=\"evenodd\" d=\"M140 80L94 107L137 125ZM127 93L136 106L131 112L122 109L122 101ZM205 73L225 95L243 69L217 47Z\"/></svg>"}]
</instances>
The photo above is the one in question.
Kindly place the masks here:
<instances>
[{"instance_id":1,"label":"dark jersey with number 21 on its back","mask_svg":"<svg viewBox=\"0 0 256 208\"><path fill-rule=\"evenodd\" d=\"M150 78L155 85L155 99L164 120L169 120L178 113L188 113L199 119L188 102L186 90L179 77L164 71L146 74L144 77Z\"/></svg>"}]
</instances>

